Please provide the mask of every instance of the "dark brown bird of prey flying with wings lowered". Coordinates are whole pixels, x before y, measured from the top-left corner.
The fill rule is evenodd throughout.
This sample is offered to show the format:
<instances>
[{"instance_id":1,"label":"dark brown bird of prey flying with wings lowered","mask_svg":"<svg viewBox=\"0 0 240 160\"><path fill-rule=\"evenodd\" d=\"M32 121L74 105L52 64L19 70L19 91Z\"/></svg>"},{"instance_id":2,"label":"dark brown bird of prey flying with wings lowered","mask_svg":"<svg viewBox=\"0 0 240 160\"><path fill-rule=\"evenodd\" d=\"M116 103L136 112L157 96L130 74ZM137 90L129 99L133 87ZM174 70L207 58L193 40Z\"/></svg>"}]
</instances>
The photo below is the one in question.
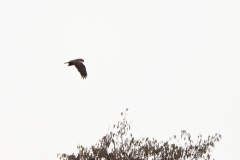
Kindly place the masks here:
<instances>
[{"instance_id":1,"label":"dark brown bird of prey flying with wings lowered","mask_svg":"<svg viewBox=\"0 0 240 160\"><path fill-rule=\"evenodd\" d=\"M87 71L85 65L82 63L84 62L83 59L74 59L69 62L65 62L64 64L68 63L68 66L74 65L78 72L81 74L82 78L85 79L87 78Z\"/></svg>"}]
</instances>

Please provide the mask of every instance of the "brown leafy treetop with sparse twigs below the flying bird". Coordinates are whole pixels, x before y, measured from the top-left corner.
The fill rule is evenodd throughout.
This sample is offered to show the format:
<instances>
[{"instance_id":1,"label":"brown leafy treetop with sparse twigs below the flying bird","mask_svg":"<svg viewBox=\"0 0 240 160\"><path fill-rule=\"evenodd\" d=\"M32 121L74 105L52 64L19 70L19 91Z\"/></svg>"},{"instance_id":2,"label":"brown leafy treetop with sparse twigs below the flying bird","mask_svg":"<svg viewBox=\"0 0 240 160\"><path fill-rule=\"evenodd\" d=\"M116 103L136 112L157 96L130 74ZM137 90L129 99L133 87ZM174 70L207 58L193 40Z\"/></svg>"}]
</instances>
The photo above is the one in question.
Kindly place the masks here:
<instances>
[{"instance_id":1,"label":"brown leafy treetop with sparse twigs below the flying bird","mask_svg":"<svg viewBox=\"0 0 240 160\"><path fill-rule=\"evenodd\" d=\"M125 114L121 113L122 121L114 124L113 131L103 136L98 143L90 148L78 145L77 156L58 154L58 157L61 160L209 160L215 142L221 139L219 133L208 136L205 140L200 134L194 143L185 130L181 131L181 138L174 135L168 141L158 142L148 137L136 139L128 133L130 124L126 120L127 111L128 109ZM172 140L175 140L175 143L170 143Z\"/></svg>"}]
</instances>

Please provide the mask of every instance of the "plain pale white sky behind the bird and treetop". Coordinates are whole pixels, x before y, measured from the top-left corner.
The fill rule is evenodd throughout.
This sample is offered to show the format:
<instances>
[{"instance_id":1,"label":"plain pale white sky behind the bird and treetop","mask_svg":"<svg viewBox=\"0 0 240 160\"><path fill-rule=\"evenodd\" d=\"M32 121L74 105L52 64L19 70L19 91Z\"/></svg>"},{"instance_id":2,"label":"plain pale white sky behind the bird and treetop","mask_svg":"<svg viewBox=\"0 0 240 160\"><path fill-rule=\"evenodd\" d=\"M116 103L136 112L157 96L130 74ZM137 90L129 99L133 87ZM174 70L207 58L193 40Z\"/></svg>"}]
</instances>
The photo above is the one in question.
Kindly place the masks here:
<instances>
[{"instance_id":1,"label":"plain pale white sky behind the bird and treetop","mask_svg":"<svg viewBox=\"0 0 240 160\"><path fill-rule=\"evenodd\" d=\"M1 159L77 153L76 139L95 144L126 107L136 137L220 132L214 158L236 159L239 8L237 0L1 0ZM63 64L75 58L85 60L86 80Z\"/></svg>"}]
</instances>

